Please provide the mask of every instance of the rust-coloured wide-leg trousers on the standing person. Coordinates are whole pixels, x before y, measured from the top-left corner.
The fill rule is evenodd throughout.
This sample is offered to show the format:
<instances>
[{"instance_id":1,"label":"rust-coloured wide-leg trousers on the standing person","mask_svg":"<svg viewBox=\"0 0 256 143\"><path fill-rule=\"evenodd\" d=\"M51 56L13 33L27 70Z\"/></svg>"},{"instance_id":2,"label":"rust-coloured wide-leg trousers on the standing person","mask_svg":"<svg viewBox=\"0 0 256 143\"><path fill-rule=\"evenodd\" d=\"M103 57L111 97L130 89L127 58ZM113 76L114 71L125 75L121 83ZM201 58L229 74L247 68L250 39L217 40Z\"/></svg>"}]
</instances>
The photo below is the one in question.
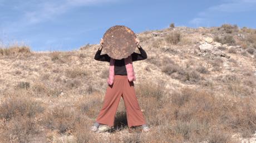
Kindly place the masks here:
<instances>
[{"instance_id":1,"label":"rust-coloured wide-leg trousers on the standing person","mask_svg":"<svg viewBox=\"0 0 256 143\"><path fill-rule=\"evenodd\" d=\"M127 75L115 75L114 83L107 86L104 104L96 118L96 122L110 127L114 126L116 110L121 96L125 103L128 126L146 124L135 94L134 83L128 80Z\"/></svg>"}]
</instances>

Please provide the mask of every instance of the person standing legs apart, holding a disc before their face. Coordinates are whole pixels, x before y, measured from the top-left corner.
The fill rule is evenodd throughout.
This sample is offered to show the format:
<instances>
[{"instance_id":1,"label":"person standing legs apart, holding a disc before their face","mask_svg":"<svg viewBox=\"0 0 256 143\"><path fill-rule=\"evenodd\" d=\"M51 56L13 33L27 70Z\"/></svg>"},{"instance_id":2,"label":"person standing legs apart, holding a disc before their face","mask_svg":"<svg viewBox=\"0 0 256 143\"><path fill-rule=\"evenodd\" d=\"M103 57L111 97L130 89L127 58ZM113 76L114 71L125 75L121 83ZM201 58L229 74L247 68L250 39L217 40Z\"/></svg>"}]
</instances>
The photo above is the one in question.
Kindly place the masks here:
<instances>
[{"instance_id":1,"label":"person standing legs apart, holding a disc before their face","mask_svg":"<svg viewBox=\"0 0 256 143\"><path fill-rule=\"evenodd\" d=\"M140 54L134 52L129 57L118 60L112 59L107 54L101 55L104 44L104 40L101 39L101 47L97 50L94 59L110 63L109 78L107 80L109 86L107 86L101 111L91 127L92 131L98 131L100 125L103 126L103 131L107 131L114 126L115 114L121 97L125 103L128 126L141 126L142 131L145 132L150 130L139 106L133 82L136 80L136 77L132 62L147 58L145 50L142 49L139 43L139 39L136 38L136 44L140 50Z\"/></svg>"}]
</instances>

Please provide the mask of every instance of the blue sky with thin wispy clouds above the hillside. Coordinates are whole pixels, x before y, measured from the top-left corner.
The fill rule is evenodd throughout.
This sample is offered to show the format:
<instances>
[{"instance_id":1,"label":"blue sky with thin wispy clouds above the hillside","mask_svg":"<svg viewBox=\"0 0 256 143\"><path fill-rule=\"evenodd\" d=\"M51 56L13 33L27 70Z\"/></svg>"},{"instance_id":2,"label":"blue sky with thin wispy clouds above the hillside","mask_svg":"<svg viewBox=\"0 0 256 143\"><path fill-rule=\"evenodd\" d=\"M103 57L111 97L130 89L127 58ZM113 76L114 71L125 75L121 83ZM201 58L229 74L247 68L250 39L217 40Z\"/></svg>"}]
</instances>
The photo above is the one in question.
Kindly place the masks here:
<instances>
[{"instance_id":1,"label":"blue sky with thin wispy clouds above the hillside","mask_svg":"<svg viewBox=\"0 0 256 143\"><path fill-rule=\"evenodd\" d=\"M107 29L126 25L139 33L223 23L256 28L256 0L0 0L0 44L32 50L72 50L99 43Z\"/></svg>"}]
</instances>

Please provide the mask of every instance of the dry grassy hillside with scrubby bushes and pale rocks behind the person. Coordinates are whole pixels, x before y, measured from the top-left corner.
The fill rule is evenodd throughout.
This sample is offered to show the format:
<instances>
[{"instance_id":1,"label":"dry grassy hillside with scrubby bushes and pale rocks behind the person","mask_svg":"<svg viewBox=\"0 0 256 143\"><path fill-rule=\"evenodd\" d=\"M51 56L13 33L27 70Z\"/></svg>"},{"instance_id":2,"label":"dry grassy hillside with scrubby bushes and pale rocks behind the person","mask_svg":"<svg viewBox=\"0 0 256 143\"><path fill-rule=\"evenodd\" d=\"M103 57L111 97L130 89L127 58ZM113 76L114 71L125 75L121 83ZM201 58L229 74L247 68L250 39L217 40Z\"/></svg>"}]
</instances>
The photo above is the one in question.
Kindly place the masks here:
<instances>
[{"instance_id":1,"label":"dry grassy hillside with scrubby bushes and pale rocks behind the person","mask_svg":"<svg viewBox=\"0 0 256 143\"><path fill-rule=\"evenodd\" d=\"M0 48L0 142L256 142L255 29L172 25L137 37L148 58L134 62L134 83L150 132L129 132L122 99L115 128L90 132L107 88L99 45L13 46Z\"/></svg>"}]
</instances>

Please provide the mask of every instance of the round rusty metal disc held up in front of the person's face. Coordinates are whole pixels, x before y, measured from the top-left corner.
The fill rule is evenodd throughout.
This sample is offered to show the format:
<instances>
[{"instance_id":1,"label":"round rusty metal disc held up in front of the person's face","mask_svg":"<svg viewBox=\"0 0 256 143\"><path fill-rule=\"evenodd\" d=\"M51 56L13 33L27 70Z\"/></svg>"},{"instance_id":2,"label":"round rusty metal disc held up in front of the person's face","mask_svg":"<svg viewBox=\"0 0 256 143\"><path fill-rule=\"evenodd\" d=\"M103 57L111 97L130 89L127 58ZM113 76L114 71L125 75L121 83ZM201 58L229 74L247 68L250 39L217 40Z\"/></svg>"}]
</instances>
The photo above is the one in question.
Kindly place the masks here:
<instances>
[{"instance_id":1,"label":"round rusty metal disc held up in front of the person's face","mask_svg":"<svg viewBox=\"0 0 256 143\"><path fill-rule=\"evenodd\" d=\"M136 47L136 34L123 25L111 27L104 34L103 48L106 54L113 59L127 58Z\"/></svg>"}]
</instances>

